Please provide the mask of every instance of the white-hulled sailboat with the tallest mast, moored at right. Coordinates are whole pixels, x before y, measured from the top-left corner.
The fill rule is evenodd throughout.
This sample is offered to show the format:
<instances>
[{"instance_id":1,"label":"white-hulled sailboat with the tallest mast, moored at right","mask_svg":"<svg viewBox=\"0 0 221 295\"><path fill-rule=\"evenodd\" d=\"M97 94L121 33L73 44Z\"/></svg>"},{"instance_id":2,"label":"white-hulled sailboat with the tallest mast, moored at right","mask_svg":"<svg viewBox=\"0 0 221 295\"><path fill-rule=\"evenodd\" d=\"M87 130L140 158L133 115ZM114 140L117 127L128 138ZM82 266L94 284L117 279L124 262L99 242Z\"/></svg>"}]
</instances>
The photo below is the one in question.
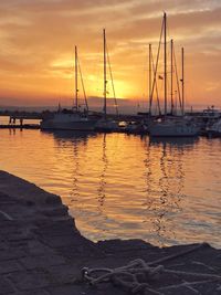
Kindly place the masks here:
<instances>
[{"instance_id":1,"label":"white-hulled sailboat with the tallest mast, moored at right","mask_svg":"<svg viewBox=\"0 0 221 295\"><path fill-rule=\"evenodd\" d=\"M190 119L185 118L185 70L183 70L183 48L182 48L182 102L181 102L181 116L168 116L167 107L168 107L168 99L167 99L167 14L164 13L164 21L162 21L162 29L164 29L164 88L165 88L165 110L164 117L156 122L152 122L148 126L149 135L151 137L191 137L197 136L199 128L194 125ZM161 36L160 36L161 38ZM172 70L171 70L172 72ZM156 75L156 72L155 72ZM155 77L156 81L156 77ZM172 80L171 80L172 83ZM154 91L154 85L152 85ZM171 112L172 112L172 103L171 103Z\"/></svg>"}]
</instances>

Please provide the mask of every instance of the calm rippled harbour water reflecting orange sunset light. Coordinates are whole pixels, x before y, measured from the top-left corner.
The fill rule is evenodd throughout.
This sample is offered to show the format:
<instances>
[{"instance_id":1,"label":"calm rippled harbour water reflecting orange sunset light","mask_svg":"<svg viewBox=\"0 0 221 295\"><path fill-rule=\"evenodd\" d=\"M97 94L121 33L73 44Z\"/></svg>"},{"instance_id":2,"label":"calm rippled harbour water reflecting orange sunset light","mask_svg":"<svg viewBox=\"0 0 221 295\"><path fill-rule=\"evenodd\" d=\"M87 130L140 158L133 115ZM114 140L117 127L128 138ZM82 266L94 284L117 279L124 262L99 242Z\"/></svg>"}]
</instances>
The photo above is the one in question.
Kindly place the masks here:
<instances>
[{"instance_id":1,"label":"calm rippled harbour water reflecting orange sunset light","mask_svg":"<svg viewBox=\"0 0 221 295\"><path fill-rule=\"evenodd\" d=\"M0 169L62 196L94 240L221 246L221 140L0 130Z\"/></svg>"}]
</instances>

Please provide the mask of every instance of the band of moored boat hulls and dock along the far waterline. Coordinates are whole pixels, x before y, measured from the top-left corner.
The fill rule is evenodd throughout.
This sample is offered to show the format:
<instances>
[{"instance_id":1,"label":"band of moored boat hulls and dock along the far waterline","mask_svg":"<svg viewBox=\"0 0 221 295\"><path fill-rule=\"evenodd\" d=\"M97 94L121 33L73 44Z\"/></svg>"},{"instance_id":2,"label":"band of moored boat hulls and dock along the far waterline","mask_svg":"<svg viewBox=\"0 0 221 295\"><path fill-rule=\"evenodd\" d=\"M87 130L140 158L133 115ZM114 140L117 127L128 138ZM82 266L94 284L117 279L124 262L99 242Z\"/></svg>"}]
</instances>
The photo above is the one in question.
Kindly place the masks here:
<instances>
[{"instance_id":1,"label":"band of moored boat hulls and dock along the far waterline","mask_svg":"<svg viewBox=\"0 0 221 295\"><path fill-rule=\"evenodd\" d=\"M221 118L221 112L215 109L215 115L210 112L207 115L207 109L199 110L197 113L187 113L186 118L180 117L168 117L166 122L162 120L160 134L158 137L188 137L188 136L208 136L213 137L214 133L210 131L212 125L215 126L215 123L219 123ZM66 113L66 114L65 114ZM44 117L44 120L42 120ZM125 133L134 135L152 135L152 131L149 130L148 126L155 126L158 128L161 118L159 116L148 117L146 114L136 114L136 115L114 115L106 114L106 120L108 122L108 128L101 127L103 126L103 115L102 113L91 113L90 120L81 115L82 122L84 122L85 127L82 125L76 125L78 115L72 114L69 110L62 112L49 112L46 115L44 113L38 113L33 117L32 113L13 114L11 115L0 115L0 129L51 129L53 130L84 130L84 131L98 131L98 133ZM51 120L53 119L53 123ZM148 119L148 123L146 120ZM158 120L157 120L158 119ZM70 123L73 120L75 127L71 127ZM43 123L42 123L43 122ZM189 128L189 129L188 129ZM167 131L166 131L167 129ZM154 130L154 129L152 129ZM220 136L220 133L215 134L217 137Z\"/></svg>"}]
</instances>

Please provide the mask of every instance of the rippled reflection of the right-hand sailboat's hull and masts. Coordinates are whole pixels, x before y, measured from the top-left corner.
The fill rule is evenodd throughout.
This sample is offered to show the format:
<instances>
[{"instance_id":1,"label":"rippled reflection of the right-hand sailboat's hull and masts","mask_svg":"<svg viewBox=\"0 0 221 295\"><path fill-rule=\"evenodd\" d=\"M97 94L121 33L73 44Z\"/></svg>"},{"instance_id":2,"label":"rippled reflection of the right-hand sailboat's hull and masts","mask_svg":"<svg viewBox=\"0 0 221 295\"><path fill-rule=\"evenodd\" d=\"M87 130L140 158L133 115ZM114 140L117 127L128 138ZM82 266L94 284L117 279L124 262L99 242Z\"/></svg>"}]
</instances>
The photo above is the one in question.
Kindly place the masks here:
<instances>
[{"instance_id":1,"label":"rippled reflection of the right-hand sailboat's hull and masts","mask_svg":"<svg viewBox=\"0 0 221 295\"><path fill-rule=\"evenodd\" d=\"M181 140L180 140L181 139ZM158 244L176 240L173 218L181 212L185 188L183 158L193 148L194 138L166 138L146 140L146 226L157 234ZM187 149L188 146L188 149ZM150 215L150 218L149 218Z\"/></svg>"}]
</instances>

